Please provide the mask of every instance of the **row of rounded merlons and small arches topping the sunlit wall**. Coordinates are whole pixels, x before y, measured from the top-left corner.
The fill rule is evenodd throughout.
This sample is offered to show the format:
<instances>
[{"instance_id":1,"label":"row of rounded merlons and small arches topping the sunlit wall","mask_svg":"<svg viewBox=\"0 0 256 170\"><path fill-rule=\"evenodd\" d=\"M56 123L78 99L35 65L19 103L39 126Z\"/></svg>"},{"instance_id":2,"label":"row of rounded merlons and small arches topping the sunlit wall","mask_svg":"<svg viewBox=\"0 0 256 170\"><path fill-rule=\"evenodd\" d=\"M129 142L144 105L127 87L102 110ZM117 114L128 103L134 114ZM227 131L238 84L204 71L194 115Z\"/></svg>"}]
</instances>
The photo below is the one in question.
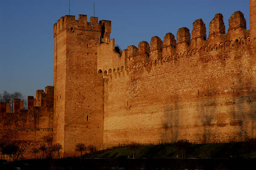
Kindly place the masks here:
<instances>
[{"instance_id":1,"label":"row of rounded merlons and small arches topping the sunlit wall","mask_svg":"<svg viewBox=\"0 0 256 170\"><path fill-rule=\"evenodd\" d=\"M188 28L179 28L177 31L177 41L172 33L166 33L164 40L154 36L151 38L150 45L146 41L139 43L138 48L130 45L123 51L127 53L128 71L137 70L138 65L151 65L151 62L162 63L166 60L180 59L194 55L205 56L209 53L220 53L224 50L240 48L243 45L249 45L255 42L255 37L250 37L250 31L246 30L246 20L241 11L236 11L229 19L229 28L225 34L225 25L222 14L215 14L215 17L209 23L209 36L207 39L206 26L202 19L193 22L192 39L190 39ZM105 44L108 46L108 44ZM114 44L111 44L113 47ZM99 55L98 58L104 58L105 54ZM108 54L108 57L111 54ZM114 62L114 61L113 61ZM125 62L125 61L124 61ZM104 63L106 63L104 61ZM118 62L116 62L118 63ZM99 61L98 65L102 63ZM121 67L122 64L115 67ZM102 72L115 68L105 65ZM99 70L99 69L98 69Z\"/></svg>"}]
</instances>

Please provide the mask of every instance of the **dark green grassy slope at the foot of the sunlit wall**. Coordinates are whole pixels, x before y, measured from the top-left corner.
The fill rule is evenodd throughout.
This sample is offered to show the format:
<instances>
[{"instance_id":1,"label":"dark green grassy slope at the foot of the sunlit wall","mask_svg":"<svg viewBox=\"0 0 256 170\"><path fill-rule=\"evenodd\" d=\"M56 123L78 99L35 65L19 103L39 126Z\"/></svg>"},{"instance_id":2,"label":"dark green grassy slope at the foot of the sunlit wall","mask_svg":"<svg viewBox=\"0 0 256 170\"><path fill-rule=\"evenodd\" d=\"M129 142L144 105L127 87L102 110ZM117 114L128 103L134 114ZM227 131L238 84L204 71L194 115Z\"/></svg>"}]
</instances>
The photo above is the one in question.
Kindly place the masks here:
<instances>
[{"instance_id":1,"label":"dark green grassy slope at the foot of the sunlit wall","mask_svg":"<svg viewBox=\"0 0 256 170\"><path fill-rule=\"evenodd\" d=\"M182 142L181 142L182 143ZM181 151L181 148L183 152ZM256 157L256 140L248 142L192 144L176 143L140 145L134 151L135 158L253 158ZM132 158L133 150L128 146L113 147L96 153L84 154L83 158Z\"/></svg>"}]
</instances>

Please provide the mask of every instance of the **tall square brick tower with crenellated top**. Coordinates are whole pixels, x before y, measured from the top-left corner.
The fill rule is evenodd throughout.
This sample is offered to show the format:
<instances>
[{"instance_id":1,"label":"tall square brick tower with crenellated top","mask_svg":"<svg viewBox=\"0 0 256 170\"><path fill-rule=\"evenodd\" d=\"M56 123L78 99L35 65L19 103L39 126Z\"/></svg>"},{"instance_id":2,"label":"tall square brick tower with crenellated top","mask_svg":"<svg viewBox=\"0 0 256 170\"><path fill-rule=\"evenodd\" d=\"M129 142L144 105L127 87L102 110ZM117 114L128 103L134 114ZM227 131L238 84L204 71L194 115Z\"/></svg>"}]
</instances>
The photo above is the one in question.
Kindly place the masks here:
<instances>
[{"instance_id":1,"label":"tall square brick tower with crenellated top","mask_svg":"<svg viewBox=\"0 0 256 170\"><path fill-rule=\"evenodd\" d=\"M73 156L75 145L103 142L104 82L97 75L97 47L110 41L111 21L66 15L53 26L54 136L61 156Z\"/></svg>"}]
</instances>

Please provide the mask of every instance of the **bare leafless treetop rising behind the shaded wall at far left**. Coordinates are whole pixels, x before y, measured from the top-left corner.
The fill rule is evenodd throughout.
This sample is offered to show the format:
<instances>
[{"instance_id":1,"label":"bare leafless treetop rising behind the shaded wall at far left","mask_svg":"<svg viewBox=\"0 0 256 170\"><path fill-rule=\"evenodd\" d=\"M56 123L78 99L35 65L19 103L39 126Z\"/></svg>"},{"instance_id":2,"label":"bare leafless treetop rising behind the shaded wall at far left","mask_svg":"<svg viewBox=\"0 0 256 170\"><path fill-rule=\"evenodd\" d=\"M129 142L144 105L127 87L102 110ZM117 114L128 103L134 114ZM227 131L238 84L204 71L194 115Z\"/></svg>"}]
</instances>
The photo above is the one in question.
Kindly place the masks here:
<instances>
[{"instance_id":1,"label":"bare leafless treetop rising behind the shaded wall at far left","mask_svg":"<svg viewBox=\"0 0 256 170\"><path fill-rule=\"evenodd\" d=\"M0 102L6 102L11 105L11 112L13 112L13 101L14 99L20 99L23 101L23 108L27 108L27 101L25 100L22 93L15 91L14 93L8 93L7 91L3 91L3 94L0 94Z\"/></svg>"}]
</instances>

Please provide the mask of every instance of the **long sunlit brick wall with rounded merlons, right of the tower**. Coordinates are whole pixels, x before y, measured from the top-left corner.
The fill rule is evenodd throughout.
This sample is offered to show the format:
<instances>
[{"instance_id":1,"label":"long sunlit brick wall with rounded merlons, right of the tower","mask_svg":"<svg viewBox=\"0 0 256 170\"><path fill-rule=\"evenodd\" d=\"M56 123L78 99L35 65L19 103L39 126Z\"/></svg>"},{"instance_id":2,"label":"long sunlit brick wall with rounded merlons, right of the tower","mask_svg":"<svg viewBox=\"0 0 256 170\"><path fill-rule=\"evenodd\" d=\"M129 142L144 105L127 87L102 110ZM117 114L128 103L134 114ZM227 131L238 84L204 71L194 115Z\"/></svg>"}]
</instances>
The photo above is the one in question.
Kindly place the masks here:
<instances>
[{"instance_id":1,"label":"long sunlit brick wall with rounded merlons, right of the tower","mask_svg":"<svg viewBox=\"0 0 256 170\"><path fill-rule=\"evenodd\" d=\"M114 40L98 46L104 77L102 147L120 143L242 141L256 137L255 1L250 30L241 11L202 19L116 52ZM192 37L192 38L190 38Z\"/></svg>"}]
</instances>

